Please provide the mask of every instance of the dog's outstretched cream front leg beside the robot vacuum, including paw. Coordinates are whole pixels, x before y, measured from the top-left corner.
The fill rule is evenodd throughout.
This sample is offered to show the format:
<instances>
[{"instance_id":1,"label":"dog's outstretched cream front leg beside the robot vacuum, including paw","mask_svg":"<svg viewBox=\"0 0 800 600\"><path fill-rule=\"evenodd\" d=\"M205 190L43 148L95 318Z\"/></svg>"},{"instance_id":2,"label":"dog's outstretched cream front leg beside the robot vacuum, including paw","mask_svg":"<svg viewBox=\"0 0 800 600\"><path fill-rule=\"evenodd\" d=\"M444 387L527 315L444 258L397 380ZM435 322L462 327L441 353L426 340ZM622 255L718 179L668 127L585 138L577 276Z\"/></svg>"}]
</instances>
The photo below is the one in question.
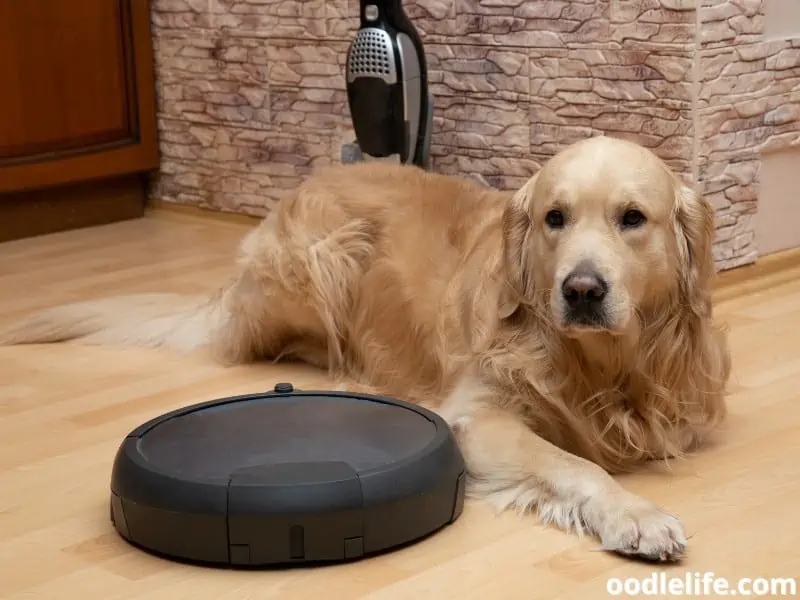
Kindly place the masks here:
<instances>
[{"instance_id":1,"label":"dog's outstretched cream front leg beside the robot vacuum, including paw","mask_svg":"<svg viewBox=\"0 0 800 600\"><path fill-rule=\"evenodd\" d=\"M438 409L450 422L467 464L467 490L498 510L532 511L548 524L597 536L606 550L676 561L686 536L673 516L626 491L596 464L561 450L519 415L462 383Z\"/></svg>"}]
</instances>

